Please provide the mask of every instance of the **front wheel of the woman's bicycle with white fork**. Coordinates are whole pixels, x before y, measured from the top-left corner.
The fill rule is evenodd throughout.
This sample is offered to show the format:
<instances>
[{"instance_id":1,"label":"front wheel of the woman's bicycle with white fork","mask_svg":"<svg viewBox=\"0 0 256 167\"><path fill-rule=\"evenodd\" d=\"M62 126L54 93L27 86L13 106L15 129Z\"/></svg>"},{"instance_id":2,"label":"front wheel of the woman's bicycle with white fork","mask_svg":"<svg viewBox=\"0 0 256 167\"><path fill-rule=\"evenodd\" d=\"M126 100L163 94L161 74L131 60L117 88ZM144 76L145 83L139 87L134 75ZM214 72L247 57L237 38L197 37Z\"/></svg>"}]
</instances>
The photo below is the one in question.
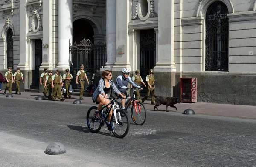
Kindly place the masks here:
<instances>
[{"instance_id":1,"label":"front wheel of the woman's bicycle with white fork","mask_svg":"<svg viewBox=\"0 0 256 167\"><path fill-rule=\"evenodd\" d=\"M110 125L111 125L111 131L112 133L118 137L123 138L127 135L129 129L130 129L130 122L128 119L127 114L124 110L116 110L116 119L114 119L114 113L111 116ZM118 122L118 124L116 123Z\"/></svg>"}]
</instances>

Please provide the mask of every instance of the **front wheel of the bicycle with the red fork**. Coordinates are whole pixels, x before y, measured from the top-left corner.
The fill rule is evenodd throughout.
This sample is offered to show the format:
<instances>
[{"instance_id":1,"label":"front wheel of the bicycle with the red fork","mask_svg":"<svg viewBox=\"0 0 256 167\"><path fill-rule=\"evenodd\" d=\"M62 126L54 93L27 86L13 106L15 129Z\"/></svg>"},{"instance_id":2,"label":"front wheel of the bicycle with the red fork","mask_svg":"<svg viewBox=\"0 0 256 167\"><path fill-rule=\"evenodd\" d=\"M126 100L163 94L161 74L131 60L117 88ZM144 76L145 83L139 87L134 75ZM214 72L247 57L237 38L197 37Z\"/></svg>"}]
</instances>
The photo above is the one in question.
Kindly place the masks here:
<instances>
[{"instance_id":1,"label":"front wheel of the bicycle with the red fork","mask_svg":"<svg viewBox=\"0 0 256 167\"><path fill-rule=\"evenodd\" d=\"M131 107L131 119L136 125L143 125L146 121L147 110L141 102L136 102L136 104Z\"/></svg>"}]
</instances>

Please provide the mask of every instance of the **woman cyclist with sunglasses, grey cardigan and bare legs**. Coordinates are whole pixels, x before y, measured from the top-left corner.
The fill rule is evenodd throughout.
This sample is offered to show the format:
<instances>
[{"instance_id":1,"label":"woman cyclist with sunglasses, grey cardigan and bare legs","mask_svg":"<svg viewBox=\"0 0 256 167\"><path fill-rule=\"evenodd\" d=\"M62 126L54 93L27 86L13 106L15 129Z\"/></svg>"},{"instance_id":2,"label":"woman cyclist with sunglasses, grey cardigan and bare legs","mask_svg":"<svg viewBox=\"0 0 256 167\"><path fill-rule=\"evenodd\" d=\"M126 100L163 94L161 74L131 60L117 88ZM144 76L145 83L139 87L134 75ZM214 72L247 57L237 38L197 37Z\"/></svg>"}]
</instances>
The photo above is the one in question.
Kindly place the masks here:
<instances>
[{"instance_id":1,"label":"woman cyclist with sunglasses, grey cardigan and bare legs","mask_svg":"<svg viewBox=\"0 0 256 167\"><path fill-rule=\"evenodd\" d=\"M95 116L97 119L99 119L100 117L99 110L102 108L102 106L107 105L110 102L110 100L108 99L108 95L111 96L112 88L116 93L119 94L119 96L122 96L124 99L126 98L125 95L123 95L120 91L118 91L118 89L116 88L116 85L113 84L113 81L111 80L112 79L111 71L109 70L103 71L102 76L103 78L99 80L99 85L93 93L93 102L96 102L96 104L99 104L95 112ZM107 125L108 129L111 129L110 127L111 115L112 115L112 108L108 115L108 125Z\"/></svg>"}]
</instances>

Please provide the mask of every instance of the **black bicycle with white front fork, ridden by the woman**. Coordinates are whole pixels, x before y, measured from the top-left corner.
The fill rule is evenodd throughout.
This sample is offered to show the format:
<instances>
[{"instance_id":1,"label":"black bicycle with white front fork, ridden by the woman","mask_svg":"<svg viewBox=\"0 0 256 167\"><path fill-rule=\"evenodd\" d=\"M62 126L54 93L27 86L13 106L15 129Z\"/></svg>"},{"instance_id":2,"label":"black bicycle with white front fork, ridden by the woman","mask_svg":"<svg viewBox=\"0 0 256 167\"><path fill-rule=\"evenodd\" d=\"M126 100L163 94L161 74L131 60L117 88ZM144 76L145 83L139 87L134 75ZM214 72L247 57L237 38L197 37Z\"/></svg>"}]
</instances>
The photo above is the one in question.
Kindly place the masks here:
<instances>
[{"instance_id":1,"label":"black bicycle with white front fork, ridden by the woman","mask_svg":"<svg viewBox=\"0 0 256 167\"><path fill-rule=\"evenodd\" d=\"M108 130L110 132L112 131L112 133L118 138L123 138L127 135L130 128L130 122L125 111L120 110L118 103L116 102L116 99L121 99L121 98L122 97L108 98L108 99L111 99L111 102L105 106L102 106L102 108L99 111L100 118L98 119L95 116L95 111L97 110L96 106L93 106L88 110L87 126L91 132L98 133L99 130L102 128L102 126L104 126L104 124L107 124L108 115L112 108L113 113L110 119L111 129L108 129ZM107 108L108 105L111 105L111 107Z\"/></svg>"}]
</instances>

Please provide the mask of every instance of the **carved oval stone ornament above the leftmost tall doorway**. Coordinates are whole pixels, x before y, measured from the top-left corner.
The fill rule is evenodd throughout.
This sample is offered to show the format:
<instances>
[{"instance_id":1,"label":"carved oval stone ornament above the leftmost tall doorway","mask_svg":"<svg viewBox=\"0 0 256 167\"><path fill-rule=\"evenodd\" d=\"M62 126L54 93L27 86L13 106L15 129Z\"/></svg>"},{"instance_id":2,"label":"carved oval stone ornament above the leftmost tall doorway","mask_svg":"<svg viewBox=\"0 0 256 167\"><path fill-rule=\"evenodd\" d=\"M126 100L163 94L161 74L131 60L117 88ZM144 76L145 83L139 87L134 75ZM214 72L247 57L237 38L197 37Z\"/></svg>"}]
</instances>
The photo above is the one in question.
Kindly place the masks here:
<instances>
[{"instance_id":1,"label":"carved oval stone ornament above the leftmost tall doorway","mask_svg":"<svg viewBox=\"0 0 256 167\"><path fill-rule=\"evenodd\" d=\"M43 30L41 16L37 10L33 10L33 16L30 18L30 28L29 31L37 33Z\"/></svg>"}]
</instances>

